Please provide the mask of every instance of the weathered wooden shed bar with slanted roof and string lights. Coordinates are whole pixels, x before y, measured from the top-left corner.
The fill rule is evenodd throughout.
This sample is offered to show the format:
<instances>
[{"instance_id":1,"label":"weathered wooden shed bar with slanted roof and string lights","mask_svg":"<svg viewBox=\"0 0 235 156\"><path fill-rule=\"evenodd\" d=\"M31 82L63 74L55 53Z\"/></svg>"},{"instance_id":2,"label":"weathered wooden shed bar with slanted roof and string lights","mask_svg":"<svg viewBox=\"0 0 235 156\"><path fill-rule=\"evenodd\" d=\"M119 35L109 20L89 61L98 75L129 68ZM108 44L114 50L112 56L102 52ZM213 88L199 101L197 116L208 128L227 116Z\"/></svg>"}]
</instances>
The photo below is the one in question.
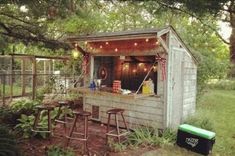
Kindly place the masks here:
<instances>
[{"instance_id":1,"label":"weathered wooden shed bar with slanted roof and string lights","mask_svg":"<svg viewBox=\"0 0 235 156\"><path fill-rule=\"evenodd\" d=\"M195 112L196 60L171 26L68 41L84 54L84 86L72 90L84 94L84 109L93 120L106 123L108 109L123 108L130 128L162 129L178 126ZM94 89L97 80L101 86Z\"/></svg>"}]
</instances>

